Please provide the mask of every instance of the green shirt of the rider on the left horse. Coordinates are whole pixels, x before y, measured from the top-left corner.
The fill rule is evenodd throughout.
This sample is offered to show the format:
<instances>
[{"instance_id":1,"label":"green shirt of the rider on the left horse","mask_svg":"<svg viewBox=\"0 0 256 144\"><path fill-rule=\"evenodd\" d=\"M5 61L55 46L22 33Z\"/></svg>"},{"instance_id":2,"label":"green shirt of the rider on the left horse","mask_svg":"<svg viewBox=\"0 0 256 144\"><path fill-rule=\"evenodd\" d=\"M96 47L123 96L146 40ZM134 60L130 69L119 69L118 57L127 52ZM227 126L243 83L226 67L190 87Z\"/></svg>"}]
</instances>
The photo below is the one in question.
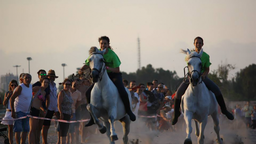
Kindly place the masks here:
<instances>
[{"instance_id":1,"label":"green shirt of the rider on the left horse","mask_svg":"<svg viewBox=\"0 0 256 144\"><path fill-rule=\"evenodd\" d=\"M101 50L101 49L99 49L99 50ZM111 50L110 48L108 48L108 53L104 54L103 57L106 60L106 62L109 62L109 63L106 63L106 66L108 66L110 68L117 68L121 64L121 61L118 58L117 54L115 54L115 52L113 50ZM90 66L89 58L90 58L90 56L85 61L87 66ZM111 71L107 70L107 72L109 73Z\"/></svg>"}]
</instances>

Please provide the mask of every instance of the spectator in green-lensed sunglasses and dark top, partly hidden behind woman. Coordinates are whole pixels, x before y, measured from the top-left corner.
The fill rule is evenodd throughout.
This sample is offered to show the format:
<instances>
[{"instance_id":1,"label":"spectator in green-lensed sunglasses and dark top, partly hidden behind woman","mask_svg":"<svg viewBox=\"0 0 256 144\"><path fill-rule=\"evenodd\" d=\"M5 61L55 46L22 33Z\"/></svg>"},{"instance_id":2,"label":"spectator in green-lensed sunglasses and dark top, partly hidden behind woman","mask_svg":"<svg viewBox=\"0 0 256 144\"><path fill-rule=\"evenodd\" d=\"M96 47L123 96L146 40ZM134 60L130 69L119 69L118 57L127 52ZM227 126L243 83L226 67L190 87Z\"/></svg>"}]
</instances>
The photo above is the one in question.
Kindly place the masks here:
<instances>
[{"instance_id":1,"label":"spectator in green-lensed sunglasses and dark top, partly hidden behind woman","mask_svg":"<svg viewBox=\"0 0 256 144\"><path fill-rule=\"evenodd\" d=\"M46 71L44 69L40 69L37 72L37 75L38 75L39 81L34 83L32 85L32 87L36 87L36 86L40 87L42 85L42 82L43 82L44 78L46 78ZM49 86L49 83L48 83L48 87L45 88L44 91L45 91L46 94L45 94L45 101L42 101L42 106L43 106L44 110L47 113L47 109L48 109L49 103L50 103L50 86ZM42 111L40 109L39 117L45 118L46 113L44 113L44 111ZM36 135L35 135L36 136L35 144L40 143L40 135L41 135L41 130L43 128L43 123L44 123L44 120L38 119L38 127L37 127L37 130L36 130L37 132L36 132Z\"/></svg>"}]
</instances>

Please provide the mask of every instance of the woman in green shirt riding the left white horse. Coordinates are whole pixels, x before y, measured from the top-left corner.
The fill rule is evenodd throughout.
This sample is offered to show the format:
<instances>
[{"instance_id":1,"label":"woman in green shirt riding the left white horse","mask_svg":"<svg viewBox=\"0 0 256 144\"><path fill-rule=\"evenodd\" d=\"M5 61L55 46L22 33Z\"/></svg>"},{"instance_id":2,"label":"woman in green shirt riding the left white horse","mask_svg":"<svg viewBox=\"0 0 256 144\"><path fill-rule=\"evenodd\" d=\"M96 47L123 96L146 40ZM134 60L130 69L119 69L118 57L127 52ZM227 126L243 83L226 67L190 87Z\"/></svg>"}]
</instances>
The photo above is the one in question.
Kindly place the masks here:
<instances>
[{"instance_id":1,"label":"woman in green shirt riding the left white horse","mask_svg":"<svg viewBox=\"0 0 256 144\"><path fill-rule=\"evenodd\" d=\"M103 57L106 60L106 62L108 62L108 63L106 63L106 69L107 69L108 76L111 79L111 81L115 84L115 86L117 87L120 97L121 97L122 101L124 102L125 110L126 110L127 114L130 116L131 121L135 121L136 116L131 111L129 97L125 90L123 81L122 81L122 73L120 73L120 69L119 69L121 62L120 62L117 54L115 54L115 52L111 49L110 40L107 36L101 36L99 38L99 46L101 48L99 50L106 49L106 52L104 53ZM85 69L90 68L89 58L85 61L85 63L86 64L79 70L79 74L81 74L82 71L84 71ZM92 91L92 88L94 87L94 84L95 83L93 83L85 92L86 100L87 100L88 104L91 101L91 91ZM85 125L85 127L89 127L93 124L94 124L94 120L91 117L91 120L89 121L89 123L87 123Z\"/></svg>"}]
</instances>

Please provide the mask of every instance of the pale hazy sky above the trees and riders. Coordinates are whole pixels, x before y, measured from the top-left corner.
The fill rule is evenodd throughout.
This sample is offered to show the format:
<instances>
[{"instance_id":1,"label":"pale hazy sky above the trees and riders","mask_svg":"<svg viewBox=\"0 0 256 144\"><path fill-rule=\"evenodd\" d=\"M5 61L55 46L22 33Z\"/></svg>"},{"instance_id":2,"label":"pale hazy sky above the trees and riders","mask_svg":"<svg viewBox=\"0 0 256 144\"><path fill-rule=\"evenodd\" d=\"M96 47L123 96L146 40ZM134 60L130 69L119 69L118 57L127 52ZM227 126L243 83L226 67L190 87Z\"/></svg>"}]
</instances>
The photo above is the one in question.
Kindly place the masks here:
<instances>
[{"instance_id":1,"label":"pale hazy sky above the trees and riders","mask_svg":"<svg viewBox=\"0 0 256 144\"><path fill-rule=\"evenodd\" d=\"M223 61L236 66L234 74L255 63L255 26L256 0L1 0L0 75L16 75L14 65L27 73L26 57L32 57L33 83L39 69L54 69L61 82L61 64L68 65L65 76L75 73L103 35L121 71L138 68L139 37L142 66L183 76L185 55L179 49L193 49L193 39L201 36L210 70Z\"/></svg>"}]
</instances>

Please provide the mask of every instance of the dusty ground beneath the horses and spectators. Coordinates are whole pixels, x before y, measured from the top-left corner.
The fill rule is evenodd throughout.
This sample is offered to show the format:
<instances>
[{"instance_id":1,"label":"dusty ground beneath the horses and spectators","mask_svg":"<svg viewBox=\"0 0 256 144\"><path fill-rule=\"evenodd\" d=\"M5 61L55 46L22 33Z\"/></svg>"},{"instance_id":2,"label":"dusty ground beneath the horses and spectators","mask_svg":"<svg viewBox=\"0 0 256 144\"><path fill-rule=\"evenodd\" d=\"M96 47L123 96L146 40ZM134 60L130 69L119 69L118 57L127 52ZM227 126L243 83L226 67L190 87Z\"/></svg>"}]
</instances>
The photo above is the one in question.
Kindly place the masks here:
<instances>
[{"instance_id":1,"label":"dusty ground beneath the horses and spectators","mask_svg":"<svg viewBox=\"0 0 256 144\"><path fill-rule=\"evenodd\" d=\"M247 129L245 125L240 128L235 128L235 124L230 121L221 121L221 137L224 139L223 144L256 144L256 130ZM116 123L116 132L119 140L116 144L122 144L122 128L120 123ZM146 128L144 122L136 121L131 125L131 132L129 134L129 144L183 144L186 138L186 125L181 122L177 125L177 131L150 131ZM192 141L197 144L195 137L195 128L193 127ZM5 132L7 135L7 132ZM205 144L215 144L216 134L213 130L212 121L209 120L205 129ZM0 137L0 144L3 144L3 137ZM51 126L48 138L49 144L56 144L57 135L54 126ZM28 144L28 142L26 142ZM109 144L108 138L105 134L93 134L88 138L86 144Z\"/></svg>"}]
</instances>

